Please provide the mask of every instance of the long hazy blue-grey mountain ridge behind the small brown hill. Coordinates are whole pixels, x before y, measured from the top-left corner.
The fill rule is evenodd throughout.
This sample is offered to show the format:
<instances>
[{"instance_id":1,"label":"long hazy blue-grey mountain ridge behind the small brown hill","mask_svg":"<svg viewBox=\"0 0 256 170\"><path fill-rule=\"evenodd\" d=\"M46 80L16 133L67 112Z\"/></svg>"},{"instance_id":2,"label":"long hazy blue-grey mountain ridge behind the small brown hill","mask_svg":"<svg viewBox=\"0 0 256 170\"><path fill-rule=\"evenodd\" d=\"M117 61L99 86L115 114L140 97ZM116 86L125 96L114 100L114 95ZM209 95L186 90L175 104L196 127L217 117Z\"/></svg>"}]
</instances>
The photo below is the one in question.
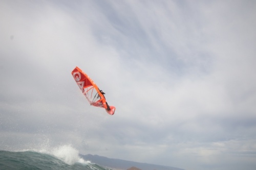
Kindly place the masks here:
<instances>
[{"instance_id":1,"label":"long hazy blue-grey mountain ridge behind the small brown hill","mask_svg":"<svg viewBox=\"0 0 256 170\"><path fill-rule=\"evenodd\" d=\"M184 170L177 167L171 166L163 166L163 165L155 165L149 163L140 163L140 162L133 162L133 161L126 161L121 159L111 159L99 155L80 155L84 160L89 160L92 163L99 164L101 166L110 167L114 169L129 169L130 167L137 167L141 170Z\"/></svg>"}]
</instances>

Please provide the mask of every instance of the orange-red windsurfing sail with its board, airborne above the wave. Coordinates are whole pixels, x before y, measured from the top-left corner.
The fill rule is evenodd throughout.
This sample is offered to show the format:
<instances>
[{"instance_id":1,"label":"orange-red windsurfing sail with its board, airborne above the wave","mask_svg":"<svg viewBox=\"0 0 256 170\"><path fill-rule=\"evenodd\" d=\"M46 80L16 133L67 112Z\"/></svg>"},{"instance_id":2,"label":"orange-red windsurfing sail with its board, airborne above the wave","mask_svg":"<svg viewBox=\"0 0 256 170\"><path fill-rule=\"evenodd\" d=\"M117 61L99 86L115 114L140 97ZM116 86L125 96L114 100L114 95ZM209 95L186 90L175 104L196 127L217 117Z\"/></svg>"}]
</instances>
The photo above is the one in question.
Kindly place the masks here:
<instances>
[{"instance_id":1,"label":"orange-red windsurfing sail with its board, airborne above the wave","mask_svg":"<svg viewBox=\"0 0 256 170\"><path fill-rule=\"evenodd\" d=\"M108 105L104 92L99 89L87 74L78 67L75 67L71 74L90 105L104 108L110 115L115 113L116 108Z\"/></svg>"}]
</instances>

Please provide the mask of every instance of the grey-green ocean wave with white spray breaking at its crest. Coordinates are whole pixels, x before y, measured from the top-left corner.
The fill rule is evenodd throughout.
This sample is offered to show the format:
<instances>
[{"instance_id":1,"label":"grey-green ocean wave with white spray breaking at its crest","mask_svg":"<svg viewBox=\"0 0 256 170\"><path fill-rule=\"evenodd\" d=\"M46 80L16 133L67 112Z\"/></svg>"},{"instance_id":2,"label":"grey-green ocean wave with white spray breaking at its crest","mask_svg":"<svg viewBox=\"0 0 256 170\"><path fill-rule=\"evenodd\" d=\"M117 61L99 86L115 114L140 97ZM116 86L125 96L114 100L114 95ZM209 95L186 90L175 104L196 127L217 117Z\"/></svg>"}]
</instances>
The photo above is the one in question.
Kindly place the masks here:
<instances>
[{"instance_id":1,"label":"grey-green ocean wave with white spray breaking at its crest","mask_svg":"<svg viewBox=\"0 0 256 170\"><path fill-rule=\"evenodd\" d=\"M111 170L79 157L77 150L70 145L63 145L51 151L23 150L0 151L1 170Z\"/></svg>"}]
</instances>

